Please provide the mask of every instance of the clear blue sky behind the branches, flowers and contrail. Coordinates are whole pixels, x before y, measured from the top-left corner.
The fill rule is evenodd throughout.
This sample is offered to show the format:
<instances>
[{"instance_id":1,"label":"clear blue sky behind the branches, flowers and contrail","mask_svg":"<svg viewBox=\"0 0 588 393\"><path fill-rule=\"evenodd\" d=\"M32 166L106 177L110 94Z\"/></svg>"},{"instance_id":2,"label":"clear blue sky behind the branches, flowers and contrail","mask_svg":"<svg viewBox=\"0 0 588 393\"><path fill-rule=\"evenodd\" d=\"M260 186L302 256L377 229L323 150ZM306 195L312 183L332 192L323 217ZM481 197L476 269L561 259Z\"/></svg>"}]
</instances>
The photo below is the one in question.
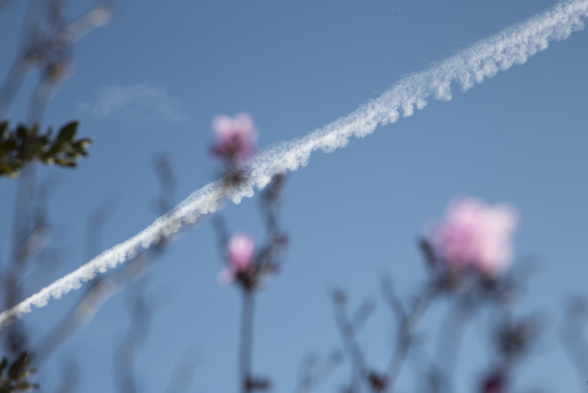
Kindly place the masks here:
<instances>
[{"instance_id":1,"label":"clear blue sky behind the branches, flowers and contrail","mask_svg":"<svg viewBox=\"0 0 588 393\"><path fill-rule=\"evenodd\" d=\"M50 199L54 246L62 258L52 277L26 288L36 292L85 261L83 228L103 198L119 202L106 224L102 248L131 237L156 215L153 156L177 162L178 201L214 178L209 154L214 115L248 112L259 145L305 135L355 110L404 75L543 11L543 0L449 1L203 1L119 2L111 22L82 39L75 74L48 107L46 124L81 120L93 139L91 156L75 171L44 168L59 188ZM70 4L72 18L92 6ZM0 15L0 77L16 54L25 2ZM455 195L511 202L521 215L518 258L534 256L542 270L522 311L543 309L557 328L567 297L586 295L588 269L588 52L586 31L554 42L449 102L431 100L423 111L381 126L344 149L312 155L293 172L283 210L292 247L283 271L260 294L254 369L269 375L276 391L293 390L296 368L308 352L340 347L328 291L342 287L354 304L377 298L378 277L390 272L404 299L425 277L416 239L430 218L442 215ZM35 78L10 114L24 119ZM113 99L118 94L118 99ZM8 258L16 182L0 181L2 259ZM223 217L232 230L262 235L256 198L229 204ZM137 376L145 391L163 391L176 358L189 345L201 354L191 391L236 387L240 300L221 288L222 268L209 223L189 232L149 275L148 298L156 308ZM82 295L72 292L25 317L40 339ZM426 328L434 331L443 308ZM76 359L81 391L113 390L112 358L128 328L125 294L113 297L91 324L39 374L44 386L58 381L60 365ZM457 378L470 391L488 364L485 321L465 341ZM360 337L370 364L385 365L390 316L381 302ZM573 369L544 339L521 372L521 386L576 391ZM465 361L467 359L467 361ZM346 381L342 367L320 391ZM400 381L409 391L410 373Z\"/></svg>"}]
</instances>

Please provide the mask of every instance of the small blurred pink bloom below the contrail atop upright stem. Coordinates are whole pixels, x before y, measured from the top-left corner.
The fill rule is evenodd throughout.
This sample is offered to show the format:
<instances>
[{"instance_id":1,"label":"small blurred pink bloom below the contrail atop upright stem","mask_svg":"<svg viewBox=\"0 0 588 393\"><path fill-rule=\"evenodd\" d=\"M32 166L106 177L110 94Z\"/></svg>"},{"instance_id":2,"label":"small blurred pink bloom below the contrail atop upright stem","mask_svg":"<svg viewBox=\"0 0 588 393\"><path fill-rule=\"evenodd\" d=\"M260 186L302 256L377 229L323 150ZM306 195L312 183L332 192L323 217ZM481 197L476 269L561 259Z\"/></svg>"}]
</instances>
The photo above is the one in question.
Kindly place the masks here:
<instances>
[{"instance_id":1,"label":"small blurred pink bloom below the contrail atop upright stem","mask_svg":"<svg viewBox=\"0 0 588 393\"><path fill-rule=\"evenodd\" d=\"M239 275L250 274L255 262L255 239L236 232L229 239L229 244L226 247L226 258L229 266L219 273L218 281L221 285L228 285L235 281Z\"/></svg>"}]
</instances>

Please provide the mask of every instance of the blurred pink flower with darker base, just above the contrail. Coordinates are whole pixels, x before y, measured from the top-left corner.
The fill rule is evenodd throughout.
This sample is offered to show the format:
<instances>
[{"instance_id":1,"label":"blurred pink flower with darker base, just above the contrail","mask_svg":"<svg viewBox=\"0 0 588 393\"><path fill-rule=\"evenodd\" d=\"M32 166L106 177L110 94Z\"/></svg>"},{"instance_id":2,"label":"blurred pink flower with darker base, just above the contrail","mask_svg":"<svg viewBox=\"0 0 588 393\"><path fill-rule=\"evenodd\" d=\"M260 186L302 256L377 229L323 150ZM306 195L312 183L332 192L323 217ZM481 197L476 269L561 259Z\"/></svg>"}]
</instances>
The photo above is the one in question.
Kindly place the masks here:
<instances>
[{"instance_id":1,"label":"blurred pink flower with darker base, just above the contrail","mask_svg":"<svg viewBox=\"0 0 588 393\"><path fill-rule=\"evenodd\" d=\"M257 131L248 114L240 113L233 118L217 115L212 119L212 129L215 132L216 155L244 161L255 153Z\"/></svg>"}]
</instances>

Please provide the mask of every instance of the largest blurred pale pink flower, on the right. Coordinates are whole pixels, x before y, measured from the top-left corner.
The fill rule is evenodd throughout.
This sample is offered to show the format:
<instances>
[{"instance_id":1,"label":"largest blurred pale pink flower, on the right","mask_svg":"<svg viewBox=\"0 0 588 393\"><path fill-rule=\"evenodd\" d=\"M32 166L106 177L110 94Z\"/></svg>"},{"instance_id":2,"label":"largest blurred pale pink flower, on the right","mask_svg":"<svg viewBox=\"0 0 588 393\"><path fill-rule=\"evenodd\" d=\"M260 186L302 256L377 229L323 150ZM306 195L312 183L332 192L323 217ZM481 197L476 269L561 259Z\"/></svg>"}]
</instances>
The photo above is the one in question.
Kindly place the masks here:
<instances>
[{"instance_id":1,"label":"largest blurred pale pink flower, on the right","mask_svg":"<svg viewBox=\"0 0 588 393\"><path fill-rule=\"evenodd\" d=\"M448 267L474 268L495 278L510 264L517 222L516 211L507 205L490 206L479 199L458 199L436 225L431 241Z\"/></svg>"}]
</instances>

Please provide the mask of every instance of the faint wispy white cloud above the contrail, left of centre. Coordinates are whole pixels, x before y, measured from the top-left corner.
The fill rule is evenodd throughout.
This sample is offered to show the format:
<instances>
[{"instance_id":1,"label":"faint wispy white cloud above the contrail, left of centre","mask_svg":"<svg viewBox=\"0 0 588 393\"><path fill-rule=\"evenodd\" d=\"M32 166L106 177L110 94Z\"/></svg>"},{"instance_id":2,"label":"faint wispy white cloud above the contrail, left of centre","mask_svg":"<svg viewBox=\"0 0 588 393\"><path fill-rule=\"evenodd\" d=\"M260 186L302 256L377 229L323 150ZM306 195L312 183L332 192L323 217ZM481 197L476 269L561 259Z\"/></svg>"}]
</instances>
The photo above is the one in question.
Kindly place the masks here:
<instances>
[{"instance_id":1,"label":"faint wispy white cloud above the contrail, left of centre","mask_svg":"<svg viewBox=\"0 0 588 393\"><path fill-rule=\"evenodd\" d=\"M79 102L77 109L80 115L91 114L99 119L118 115L145 124L179 123L188 118L180 109L178 99L162 88L147 84L105 86L92 101Z\"/></svg>"}]
</instances>

